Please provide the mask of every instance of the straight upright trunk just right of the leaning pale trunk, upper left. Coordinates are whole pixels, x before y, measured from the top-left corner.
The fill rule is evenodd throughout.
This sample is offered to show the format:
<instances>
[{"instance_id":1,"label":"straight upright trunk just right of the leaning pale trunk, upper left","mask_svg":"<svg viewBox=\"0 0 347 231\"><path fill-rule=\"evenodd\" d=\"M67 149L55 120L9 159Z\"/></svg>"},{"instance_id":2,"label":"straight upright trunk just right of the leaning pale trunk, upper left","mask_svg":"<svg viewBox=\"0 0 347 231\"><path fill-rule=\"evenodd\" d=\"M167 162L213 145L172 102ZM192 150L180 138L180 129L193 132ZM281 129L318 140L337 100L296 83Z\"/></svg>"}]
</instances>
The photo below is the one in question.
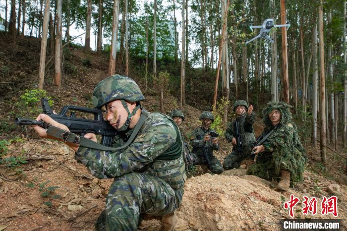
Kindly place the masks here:
<instances>
[{"instance_id":1,"label":"straight upright trunk just right of the leaning pale trunk, upper left","mask_svg":"<svg viewBox=\"0 0 347 231\"><path fill-rule=\"evenodd\" d=\"M56 51L55 51L55 74L54 74L54 82L56 86L61 86L61 6L62 1L57 0L57 32L56 32Z\"/></svg>"}]
</instances>

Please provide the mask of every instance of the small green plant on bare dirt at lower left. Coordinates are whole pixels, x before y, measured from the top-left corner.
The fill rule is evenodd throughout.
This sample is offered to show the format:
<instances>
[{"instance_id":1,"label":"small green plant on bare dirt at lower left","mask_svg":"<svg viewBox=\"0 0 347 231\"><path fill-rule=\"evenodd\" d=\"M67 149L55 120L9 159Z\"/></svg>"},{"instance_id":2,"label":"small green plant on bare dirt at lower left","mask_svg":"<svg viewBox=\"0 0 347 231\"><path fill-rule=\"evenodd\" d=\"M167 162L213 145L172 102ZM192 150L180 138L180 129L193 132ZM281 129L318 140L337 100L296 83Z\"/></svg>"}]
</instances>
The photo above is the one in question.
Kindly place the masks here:
<instances>
[{"instance_id":1,"label":"small green plant on bare dirt at lower left","mask_svg":"<svg viewBox=\"0 0 347 231\"><path fill-rule=\"evenodd\" d=\"M59 199L61 196L59 194L56 194L56 189L58 189L58 186L48 186L51 181L46 180L45 182L38 183L37 177L34 177L34 182L29 182L26 184L27 187L34 188L35 186L38 187L39 192L41 193L40 196L45 199L49 199L48 201L44 202L44 205L47 205L51 207L53 205L52 200Z\"/></svg>"}]
</instances>

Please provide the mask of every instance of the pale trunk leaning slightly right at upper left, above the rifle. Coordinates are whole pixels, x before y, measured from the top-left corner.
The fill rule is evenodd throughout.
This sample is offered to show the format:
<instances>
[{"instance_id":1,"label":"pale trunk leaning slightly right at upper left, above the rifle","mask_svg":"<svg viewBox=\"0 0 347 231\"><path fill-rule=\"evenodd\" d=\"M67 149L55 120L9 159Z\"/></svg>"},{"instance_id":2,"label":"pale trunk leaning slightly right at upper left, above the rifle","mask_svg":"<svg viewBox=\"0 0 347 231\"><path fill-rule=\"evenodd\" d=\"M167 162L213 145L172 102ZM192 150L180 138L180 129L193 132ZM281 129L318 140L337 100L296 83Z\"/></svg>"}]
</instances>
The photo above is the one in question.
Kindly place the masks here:
<instances>
[{"instance_id":1,"label":"pale trunk leaning slightly right at upper left, above the rifle","mask_svg":"<svg viewBox=\"0 0 347 231\"><path fill-rule=\"evenodd\" d=\"M44 84L44 79L45 79L47 32L48 32L50 7L51 7L50 0L46 0L45 16L44 16L43 28L42 28L41 50L40 50L40 69L39 69L39 88L40 89L43 89L43 84ZM24 14L23 14L23 16L24 16Z\"/></svg>"}]
</instances>

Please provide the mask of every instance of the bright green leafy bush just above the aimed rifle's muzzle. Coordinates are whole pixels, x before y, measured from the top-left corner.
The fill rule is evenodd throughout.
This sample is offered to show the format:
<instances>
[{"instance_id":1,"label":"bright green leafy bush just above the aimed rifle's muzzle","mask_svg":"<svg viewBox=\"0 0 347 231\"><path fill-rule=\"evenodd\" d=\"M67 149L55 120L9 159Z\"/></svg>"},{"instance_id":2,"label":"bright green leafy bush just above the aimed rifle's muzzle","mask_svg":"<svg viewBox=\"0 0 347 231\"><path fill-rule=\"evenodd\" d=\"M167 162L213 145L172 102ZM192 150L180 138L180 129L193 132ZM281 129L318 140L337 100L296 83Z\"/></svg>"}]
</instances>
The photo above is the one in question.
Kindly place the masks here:
<instances>
[{"instance_id":1,"label":"bright green leafy bush just above the aimed rifle's muzzle","mask_svg":"<svg viewBox=\"0 0 347 231\"><path fill-rule=\"evenodd\" d=\"M52 98L48 97L47 92L42 89L27 89L19 98L20 100L14 104L15 111L11 112L16 117L36 118L37 115L42 113L40 104L42 98L48 98L49 105L53 105Z\"/></svg>"}]
</instances>

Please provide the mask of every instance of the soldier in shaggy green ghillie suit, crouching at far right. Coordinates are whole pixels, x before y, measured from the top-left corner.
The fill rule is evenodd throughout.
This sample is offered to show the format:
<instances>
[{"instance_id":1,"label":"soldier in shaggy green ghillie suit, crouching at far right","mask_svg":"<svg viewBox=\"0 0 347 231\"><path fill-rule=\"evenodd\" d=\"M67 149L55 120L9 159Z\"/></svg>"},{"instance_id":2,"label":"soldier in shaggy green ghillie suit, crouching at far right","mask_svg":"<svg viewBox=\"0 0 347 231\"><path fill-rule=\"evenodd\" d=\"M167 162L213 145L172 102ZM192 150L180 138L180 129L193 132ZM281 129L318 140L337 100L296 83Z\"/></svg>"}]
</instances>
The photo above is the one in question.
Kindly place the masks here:
<instances>
[{"instance_id":1,"label":"soldier in shaggy green ghillie suit, crouching at far right","mask_svg":"<svg viewBox=\"0 0 347 231\"><path fill-rule=\"evenodd\" d=\"M247 169L247 174L279 181L277 189L285 191L294 182L302 181L306 162L290 107L284 102L270 102L263 110L265 128L262 134L272 133L262 145L254 147L256 163Z\"/></svg>"}]
</instances>

